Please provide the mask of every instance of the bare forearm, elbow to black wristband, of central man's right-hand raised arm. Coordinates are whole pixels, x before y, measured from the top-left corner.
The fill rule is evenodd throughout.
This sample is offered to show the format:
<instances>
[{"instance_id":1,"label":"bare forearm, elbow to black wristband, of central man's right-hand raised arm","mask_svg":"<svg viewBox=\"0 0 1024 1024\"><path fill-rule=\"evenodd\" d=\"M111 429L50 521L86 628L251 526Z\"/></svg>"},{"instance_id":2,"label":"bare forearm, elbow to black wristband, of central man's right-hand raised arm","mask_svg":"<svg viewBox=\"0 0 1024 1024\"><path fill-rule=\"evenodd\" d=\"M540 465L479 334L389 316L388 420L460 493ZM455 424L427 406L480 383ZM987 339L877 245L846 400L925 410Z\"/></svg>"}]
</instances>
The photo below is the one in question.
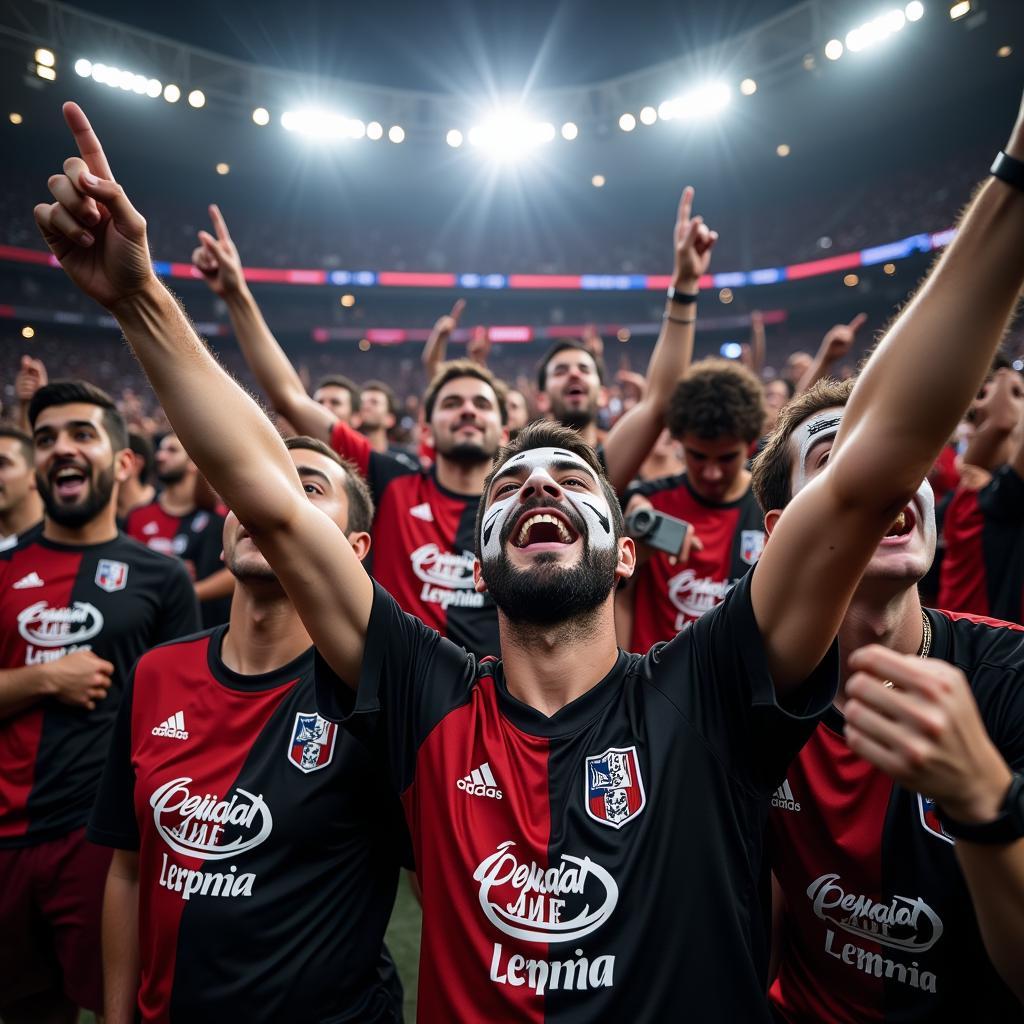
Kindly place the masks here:
<instances>
[{"instance_id":1,"label":"bare forearm, elbow to black wristband, of central man's right-hand raised arm","mask_svg":"<svg viewBox=\"0 0 1024 1024\"><path fill-rule=\"evenodd\" d=\"M850 398L833 454L845 492L892 504L928 473L977 393L1024 284L1022 239L1024 193L989 180ZM854 436L857 469L839 472Z\"/></svg>"}]
</instances>

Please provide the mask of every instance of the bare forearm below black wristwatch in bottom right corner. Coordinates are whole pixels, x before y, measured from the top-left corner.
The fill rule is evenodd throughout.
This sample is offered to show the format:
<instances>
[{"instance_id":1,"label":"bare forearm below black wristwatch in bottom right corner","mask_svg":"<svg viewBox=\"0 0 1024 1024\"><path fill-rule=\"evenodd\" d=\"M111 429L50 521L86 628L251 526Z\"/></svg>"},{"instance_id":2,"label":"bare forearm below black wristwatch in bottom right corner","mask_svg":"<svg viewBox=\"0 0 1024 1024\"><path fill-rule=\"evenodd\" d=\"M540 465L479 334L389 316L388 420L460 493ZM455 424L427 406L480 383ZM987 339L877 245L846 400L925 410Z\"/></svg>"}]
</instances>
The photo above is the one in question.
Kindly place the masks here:
<instances>
[{"instance_id":1,"label":"bare forearm below black wristwatch in bottom right corner","mask_svg":"<svg viewBox=\"0 0 1024 1024\"><path fill-rule=\"evenodd\" d=\"M956 844L989 958L1024 1002L1024 840L1005 846Z\"/></svg>"}]
</instances>

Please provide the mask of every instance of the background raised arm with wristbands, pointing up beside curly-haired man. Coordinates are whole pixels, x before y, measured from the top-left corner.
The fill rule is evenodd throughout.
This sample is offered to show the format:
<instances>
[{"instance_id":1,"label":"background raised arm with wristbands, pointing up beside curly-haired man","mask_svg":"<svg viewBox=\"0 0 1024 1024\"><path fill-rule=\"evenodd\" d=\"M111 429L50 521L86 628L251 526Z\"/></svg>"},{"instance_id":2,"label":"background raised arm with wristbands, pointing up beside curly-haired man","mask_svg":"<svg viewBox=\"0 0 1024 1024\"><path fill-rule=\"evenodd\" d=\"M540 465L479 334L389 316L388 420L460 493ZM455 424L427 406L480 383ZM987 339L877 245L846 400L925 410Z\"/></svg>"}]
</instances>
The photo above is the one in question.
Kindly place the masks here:
<instances>
[{"instance_id":1,"label":"background raised arm with wristbands, pointing up beside curly-haired man","mask_svg":"<svg viewBox=\"0 0 1024 1024\"><path fill-rule=\"evenodd\" d=\"M687 185L679 200L673 230L675 264L672 274L672 287L687 295L696 294L718 240L718 232L710 230L702 217L690 215L692 209L693 189ZM647 392L604 439L608 479L620 494L636 476L665 426L669 399L693 356L695 324L695 302L684 305L666 300L662 331L647 364Z\"/></svg>"}]
</instances>

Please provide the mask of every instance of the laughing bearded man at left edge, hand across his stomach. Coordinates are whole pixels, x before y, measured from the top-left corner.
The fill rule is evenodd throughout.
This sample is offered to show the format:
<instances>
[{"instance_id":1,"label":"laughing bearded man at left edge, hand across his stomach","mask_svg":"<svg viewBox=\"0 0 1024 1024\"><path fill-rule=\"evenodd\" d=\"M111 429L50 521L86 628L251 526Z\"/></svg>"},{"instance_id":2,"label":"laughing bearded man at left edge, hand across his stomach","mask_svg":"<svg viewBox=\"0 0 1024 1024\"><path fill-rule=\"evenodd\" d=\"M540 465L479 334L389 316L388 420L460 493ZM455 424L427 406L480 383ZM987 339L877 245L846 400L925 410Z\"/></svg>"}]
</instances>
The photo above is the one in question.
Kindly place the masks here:
<instances>
[{"instance_id":1,"label":"laughing bearded man at left edge, hand across his stomach","mask_svg":"<svg viewBox=\"0 0 1024 1024\"><path fill-rule=\"evenodd\" d=\"M181 563L118 531L131 453L110 396L55 381L29 417L43 527L0 554L0 1016L13 1024L102 1009L110 854L84 826L132 665L199 628Z\"/></svg>"}]
</instances>

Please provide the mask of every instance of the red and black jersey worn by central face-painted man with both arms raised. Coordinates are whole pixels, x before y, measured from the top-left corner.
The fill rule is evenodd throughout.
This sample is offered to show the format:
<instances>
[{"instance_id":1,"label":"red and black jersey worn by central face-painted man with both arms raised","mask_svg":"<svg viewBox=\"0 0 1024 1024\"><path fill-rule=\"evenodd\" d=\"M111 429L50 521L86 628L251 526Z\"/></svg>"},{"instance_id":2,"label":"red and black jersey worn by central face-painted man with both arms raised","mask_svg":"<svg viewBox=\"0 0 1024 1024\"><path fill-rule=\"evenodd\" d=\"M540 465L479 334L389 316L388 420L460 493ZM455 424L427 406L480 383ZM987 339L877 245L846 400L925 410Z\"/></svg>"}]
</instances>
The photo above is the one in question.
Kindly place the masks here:
<instances>
[{"instance_id":1,"label":"red and black jersey worn by central face-painted man with both arms raised","mask_svg":"<svg viewBox=\"0 0 1024 1024\"><path fill-rule=\"evenodd\" d=\"M771 1019L763 825L838 656L779 707L746 579L550 718L379 586L357 694L317 658L406 808L421 1022Z\"/></svg>"}]
</instances>

